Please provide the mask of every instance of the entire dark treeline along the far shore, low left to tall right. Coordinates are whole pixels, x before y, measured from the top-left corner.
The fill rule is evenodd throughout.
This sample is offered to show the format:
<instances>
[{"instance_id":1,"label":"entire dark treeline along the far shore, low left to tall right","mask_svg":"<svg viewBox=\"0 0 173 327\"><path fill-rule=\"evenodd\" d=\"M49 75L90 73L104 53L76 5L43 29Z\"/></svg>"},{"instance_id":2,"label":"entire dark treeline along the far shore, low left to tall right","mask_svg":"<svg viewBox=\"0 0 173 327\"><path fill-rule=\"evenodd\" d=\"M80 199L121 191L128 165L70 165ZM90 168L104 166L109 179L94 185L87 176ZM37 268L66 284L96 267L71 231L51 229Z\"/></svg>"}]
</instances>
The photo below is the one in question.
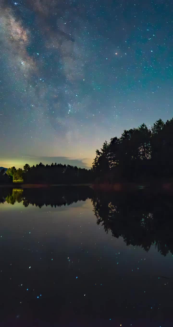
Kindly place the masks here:
<instances>
[{"instance_id":1,"label":"entire dark treeline along the far shore, low left to tall right","mask_svg":"<svg viewBox=\"0 0 173 327\"><path fill-rule=\"evenodd\" d=\"M159 119L151 129L145 124L124 130L120 138L104 142L96 150L91 169L61 163L0 172L0 185L49 187L50 185L87 185L96 190L120 191L138 187L173 189L173 118ZM22 182L23 181L23 182ZM34 186L35 185L35 186Z\"/></svg>"}]
</instances>

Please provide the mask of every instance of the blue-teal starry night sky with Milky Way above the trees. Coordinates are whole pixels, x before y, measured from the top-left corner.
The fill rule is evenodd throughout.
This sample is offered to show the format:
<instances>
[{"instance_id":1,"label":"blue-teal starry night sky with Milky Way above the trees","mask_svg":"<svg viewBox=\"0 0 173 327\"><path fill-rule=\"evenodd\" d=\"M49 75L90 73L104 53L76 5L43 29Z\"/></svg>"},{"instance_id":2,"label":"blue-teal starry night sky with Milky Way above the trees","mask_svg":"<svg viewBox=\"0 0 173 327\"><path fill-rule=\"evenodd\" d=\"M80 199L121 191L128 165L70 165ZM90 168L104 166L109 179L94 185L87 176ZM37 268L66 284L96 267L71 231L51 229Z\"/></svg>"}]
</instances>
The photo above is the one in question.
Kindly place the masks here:
<instances>
[{"instance_id":1,"label":"blue-teal starry night sky with Milky Way above the trees","mask_svg":"<svg viewBox=\"0 0 173 327\"><path fill-rule=\"evenodd\" d=\"M0 166L90 168L172 118L172 33L171 1L0 0Z\"/></svg>"}]
</instances>

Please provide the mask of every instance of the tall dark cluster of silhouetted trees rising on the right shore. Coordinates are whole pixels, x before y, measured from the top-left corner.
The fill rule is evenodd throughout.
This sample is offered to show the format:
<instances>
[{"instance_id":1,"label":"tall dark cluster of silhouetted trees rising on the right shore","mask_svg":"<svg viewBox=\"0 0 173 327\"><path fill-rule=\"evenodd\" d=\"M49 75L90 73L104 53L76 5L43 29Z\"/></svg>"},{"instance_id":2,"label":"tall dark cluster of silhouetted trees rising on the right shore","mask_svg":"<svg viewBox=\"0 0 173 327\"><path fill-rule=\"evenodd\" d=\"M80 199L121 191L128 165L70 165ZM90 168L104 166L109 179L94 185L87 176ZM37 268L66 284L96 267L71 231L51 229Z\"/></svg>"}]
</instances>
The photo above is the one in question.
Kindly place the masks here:
<instances>
[{"instance_id":1,"label":"tall dark cluster of silhouetted trees rising on the right shore","mask_svg":"<svg viewBox=\"0 0 173 327\"><path fill-rule=\"evenodd\" d=\"M172 177L173 118L165 123L157 120L151 129L145 124L124 130L96 150L92 165L98 181Z\"/></svg>"}]
</instances>

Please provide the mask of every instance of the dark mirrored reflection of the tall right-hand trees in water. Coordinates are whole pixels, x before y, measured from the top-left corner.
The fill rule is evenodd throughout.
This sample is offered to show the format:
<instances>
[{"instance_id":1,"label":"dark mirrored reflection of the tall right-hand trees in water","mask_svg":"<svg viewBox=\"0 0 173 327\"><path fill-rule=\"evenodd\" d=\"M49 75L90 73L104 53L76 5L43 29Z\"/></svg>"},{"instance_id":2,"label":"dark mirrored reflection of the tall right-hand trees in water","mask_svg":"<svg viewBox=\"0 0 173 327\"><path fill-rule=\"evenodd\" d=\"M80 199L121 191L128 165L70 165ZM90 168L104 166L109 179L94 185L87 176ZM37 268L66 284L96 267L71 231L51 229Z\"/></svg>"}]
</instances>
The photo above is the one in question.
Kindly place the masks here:
<instances>
[{"instance_id":1,"label":"dark mirrored reflection of the tall right-hand trees in water","mask_svg":"<svg viewBox=\"0 0 173 327\"><path fill-rule=\"evenodd\" d=\"M142 191L140 191L142 192ZM93 199L97 224L112 236L122 236L126 245L148 251L155 245L166 255L173 253L173 203L168 196L149 198L147 194L101 194Z\"/></svg>"}]
</instances>

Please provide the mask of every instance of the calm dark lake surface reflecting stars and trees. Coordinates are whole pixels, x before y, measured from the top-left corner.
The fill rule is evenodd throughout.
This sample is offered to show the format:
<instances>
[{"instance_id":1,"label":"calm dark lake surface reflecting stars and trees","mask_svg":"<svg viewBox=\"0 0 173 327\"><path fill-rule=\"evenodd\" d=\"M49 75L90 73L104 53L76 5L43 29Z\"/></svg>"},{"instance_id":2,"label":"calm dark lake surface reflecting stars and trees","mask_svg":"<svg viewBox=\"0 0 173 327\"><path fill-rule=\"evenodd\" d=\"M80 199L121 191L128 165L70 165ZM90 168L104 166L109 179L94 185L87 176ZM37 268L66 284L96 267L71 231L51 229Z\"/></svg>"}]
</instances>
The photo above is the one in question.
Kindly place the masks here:
<instances>
[{"instance_id":1,"label":"calm dark lake surface reflecting stars and trees","mask_svg":"<svg viewBox=\"0 0 173 327\"><path fill-rule=\"evenodd\" d=\"M173 326L172 196L0 190L0 326Z\"/></svg>"}]
</instances>

